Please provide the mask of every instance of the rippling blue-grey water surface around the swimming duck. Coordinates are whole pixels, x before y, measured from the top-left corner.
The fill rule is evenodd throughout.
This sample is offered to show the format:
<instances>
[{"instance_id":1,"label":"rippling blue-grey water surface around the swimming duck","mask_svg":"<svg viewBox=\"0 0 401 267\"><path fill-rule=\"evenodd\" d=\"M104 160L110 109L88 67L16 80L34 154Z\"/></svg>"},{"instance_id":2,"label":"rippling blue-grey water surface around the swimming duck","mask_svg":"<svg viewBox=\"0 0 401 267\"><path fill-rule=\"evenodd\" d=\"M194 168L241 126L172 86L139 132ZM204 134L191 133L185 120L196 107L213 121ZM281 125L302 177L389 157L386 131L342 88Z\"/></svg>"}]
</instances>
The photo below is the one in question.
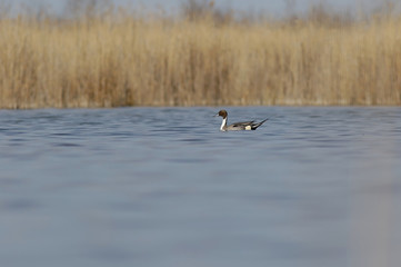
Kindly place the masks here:
<instances>
[{"instance_id":1,"label":"rippling blue-grey water surface around the swimming duck","mask_svg":"<svg viewBox=\"0 0 401 267\"><path fill-rule=\"evenodd\" d=\"M401 108L0 110L0 266L399 266Z\"/></svg>"}]
</instances>

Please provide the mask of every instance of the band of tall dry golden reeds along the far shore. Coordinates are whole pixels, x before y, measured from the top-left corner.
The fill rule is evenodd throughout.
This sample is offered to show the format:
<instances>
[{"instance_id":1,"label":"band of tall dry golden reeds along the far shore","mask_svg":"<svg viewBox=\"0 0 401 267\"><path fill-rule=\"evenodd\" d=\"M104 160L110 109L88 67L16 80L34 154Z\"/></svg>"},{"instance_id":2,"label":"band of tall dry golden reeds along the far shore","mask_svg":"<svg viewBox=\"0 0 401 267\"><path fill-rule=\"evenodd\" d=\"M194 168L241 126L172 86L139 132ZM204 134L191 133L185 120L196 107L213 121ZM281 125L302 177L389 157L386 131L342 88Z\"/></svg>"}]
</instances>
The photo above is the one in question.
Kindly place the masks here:
<instances>
[{"instance_id":1,"label":"band of tall dry golden reeds along the far shore","mask_svg":"<svg viewBox=\"0 0 401 267\"><path fill-rule=\"evenodd\" d=\"M401 17L0 20L0 108L400 105Z\"/></svg>"}]
</instances>

